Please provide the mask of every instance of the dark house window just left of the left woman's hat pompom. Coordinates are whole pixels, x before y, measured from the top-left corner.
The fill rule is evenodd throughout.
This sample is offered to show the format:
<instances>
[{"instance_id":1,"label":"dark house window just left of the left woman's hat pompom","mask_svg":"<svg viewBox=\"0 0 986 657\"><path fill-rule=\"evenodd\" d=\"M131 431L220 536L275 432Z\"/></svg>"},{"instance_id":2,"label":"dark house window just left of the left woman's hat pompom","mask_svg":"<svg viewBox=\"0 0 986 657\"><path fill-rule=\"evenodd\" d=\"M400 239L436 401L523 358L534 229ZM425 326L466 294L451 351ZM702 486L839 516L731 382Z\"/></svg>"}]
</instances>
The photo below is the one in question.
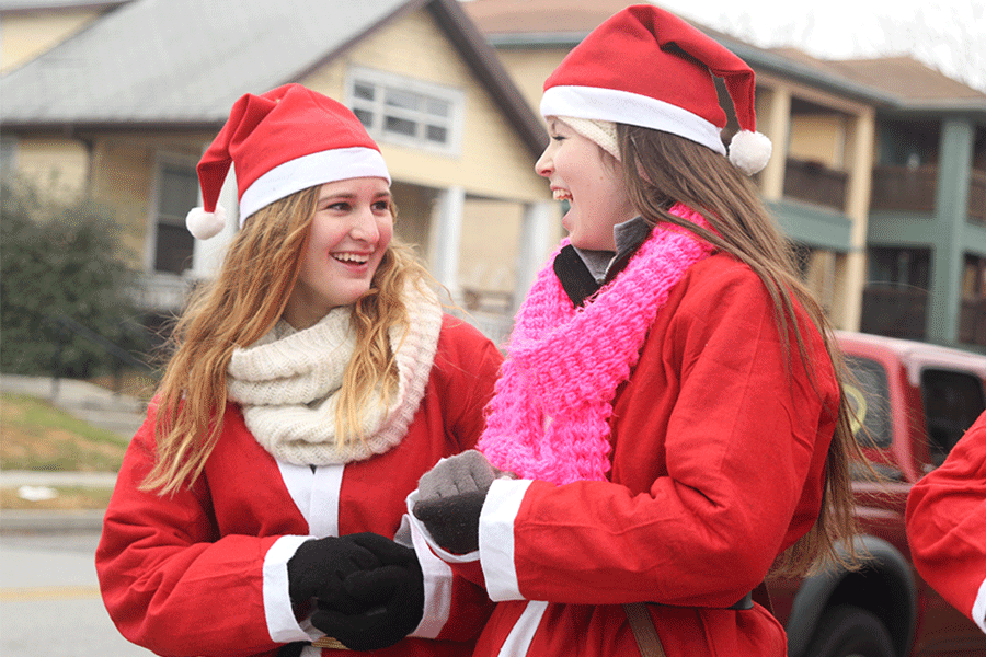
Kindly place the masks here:
<instances>
[{"instance_id":1,"label":"dark house window just left of the left woman's hat pompom","mask_svg":"<svg viewBox=\"0 0 986 657\"><path fill-rule=\"evenodd\" d=\"M194 238L185 228L185 216L198 205L198 176L190 163L162 161L158 170L156 272L181 274L192 266Z\"/></svg>"}]
</instances>

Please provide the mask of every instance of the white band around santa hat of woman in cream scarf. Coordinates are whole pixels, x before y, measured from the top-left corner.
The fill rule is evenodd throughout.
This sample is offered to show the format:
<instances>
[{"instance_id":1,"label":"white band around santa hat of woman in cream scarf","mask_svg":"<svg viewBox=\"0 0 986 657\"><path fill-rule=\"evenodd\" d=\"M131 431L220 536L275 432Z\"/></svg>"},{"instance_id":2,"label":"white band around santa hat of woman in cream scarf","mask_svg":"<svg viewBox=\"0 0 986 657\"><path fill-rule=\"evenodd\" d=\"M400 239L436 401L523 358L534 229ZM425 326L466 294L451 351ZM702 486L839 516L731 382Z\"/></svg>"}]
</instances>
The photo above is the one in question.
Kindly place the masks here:
<instances>
[{"instance_id":1,"label":"white band around santa hat of woman in cream scarf","mask_svg":"<svg viewBox=\"0 0 986 657\"><path fill-rule=\"evenodd\" d=\"M240 197L240 228L259 209L316 185L354 177L381 177L390 184L383 155L371 148L336 148L289 160L256 178Z\"/></svg>"}]
</instances>

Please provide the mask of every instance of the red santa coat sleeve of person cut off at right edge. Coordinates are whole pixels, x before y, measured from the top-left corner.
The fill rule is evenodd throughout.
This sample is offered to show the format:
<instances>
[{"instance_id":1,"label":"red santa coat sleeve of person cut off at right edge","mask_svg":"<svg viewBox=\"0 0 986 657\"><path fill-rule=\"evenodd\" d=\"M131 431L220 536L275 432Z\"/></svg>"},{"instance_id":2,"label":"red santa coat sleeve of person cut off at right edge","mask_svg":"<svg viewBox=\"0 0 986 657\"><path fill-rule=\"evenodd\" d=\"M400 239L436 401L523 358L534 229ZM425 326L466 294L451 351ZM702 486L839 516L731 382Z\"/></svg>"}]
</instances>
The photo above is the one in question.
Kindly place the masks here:
<instances>
[{"instance_id":1,"label":"red santa coat sleeve of person cut off at right edge","mask_svg":"<svg viewBox=\"0 0 986 657\"><path fill-rule=\"evenodd\" d=\"M907 498L914 566L986 632L986 413Z\"/></svg>"}]
</instances>

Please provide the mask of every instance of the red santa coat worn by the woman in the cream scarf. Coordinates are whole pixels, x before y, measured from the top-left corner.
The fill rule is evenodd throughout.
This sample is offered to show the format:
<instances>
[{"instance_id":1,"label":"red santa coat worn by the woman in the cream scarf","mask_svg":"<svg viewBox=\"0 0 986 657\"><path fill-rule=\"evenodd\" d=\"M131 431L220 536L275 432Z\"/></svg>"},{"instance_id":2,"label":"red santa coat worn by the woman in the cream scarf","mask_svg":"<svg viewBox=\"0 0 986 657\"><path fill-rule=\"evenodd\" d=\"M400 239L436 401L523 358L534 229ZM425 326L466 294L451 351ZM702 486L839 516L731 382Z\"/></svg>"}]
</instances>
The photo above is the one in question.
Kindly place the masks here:
<instances>
[{"instance_id":1,"label":"red santa coat worn by the woman in the cream scarf","mask_svg":"<svg viewBox=\"0 0 986 657\"><path fill-rule=\"evenodd\" d=\"M400 445L314 472L275 461L228 404L203 475L164 497L138 489L154 453L149 414L127 450L96 551L103 599L119 631L175 656L274 655L284 643L317 638L321 633L291 610L287 561L310 537L394 537L419 477L475 443L501 361L490 341L446 316L424 397ZM470 654L490 611L484 591L454 580L423 543L417 554L425 615L412 636L424 638L374 654ZM329 654L336 652L305 652Z\"/></svg>"}]
</instances>

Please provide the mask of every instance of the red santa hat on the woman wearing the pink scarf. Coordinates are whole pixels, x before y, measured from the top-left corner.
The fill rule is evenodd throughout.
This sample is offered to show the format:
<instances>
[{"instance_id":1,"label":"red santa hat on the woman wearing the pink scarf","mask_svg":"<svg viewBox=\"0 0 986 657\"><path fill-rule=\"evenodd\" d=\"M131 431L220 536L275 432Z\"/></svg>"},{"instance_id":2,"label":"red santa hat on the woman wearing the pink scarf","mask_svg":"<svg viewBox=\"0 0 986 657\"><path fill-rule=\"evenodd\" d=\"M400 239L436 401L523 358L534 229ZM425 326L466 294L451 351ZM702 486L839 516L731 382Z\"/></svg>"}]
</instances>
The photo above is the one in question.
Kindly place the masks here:
<instances>
[{"instance_id":1,"label":"red santa hat on the woman wearing the pink scarf","mask_svg":"<svg viewBox=\"0 0 986 657\"><path fill-rule=\"evenodd\" d=\"M730 161L752 175L766 166L771 150L756 131L753 70L657 7L628 7L575 46L544 82L541 114L653 128L724 155L726 115L712 76L725 82L740 122Z\"/></svg>"}]
</instances>

